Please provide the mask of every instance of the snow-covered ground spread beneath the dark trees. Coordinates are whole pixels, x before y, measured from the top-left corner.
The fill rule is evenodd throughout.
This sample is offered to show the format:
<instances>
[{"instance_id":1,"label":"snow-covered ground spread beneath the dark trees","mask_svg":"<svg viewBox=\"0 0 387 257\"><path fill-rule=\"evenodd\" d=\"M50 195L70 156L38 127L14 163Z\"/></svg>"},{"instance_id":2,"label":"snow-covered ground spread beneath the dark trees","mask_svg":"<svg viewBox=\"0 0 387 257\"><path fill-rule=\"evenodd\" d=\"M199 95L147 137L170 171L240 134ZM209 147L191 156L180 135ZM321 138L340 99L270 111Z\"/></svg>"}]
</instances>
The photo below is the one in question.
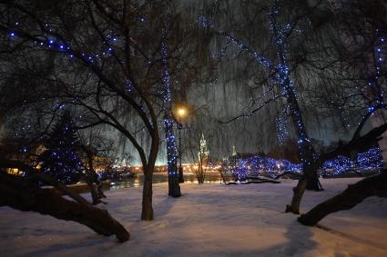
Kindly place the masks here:
<instances>
[{"instance_id":1,"label":"snow-covered ground spread beneath the dark trees","mask_svg":"<svg viewBox=\"0 0 387 257\"><path fill-rule=\"evenodd\" d=\"M322 180L307 192L302 211L358 179ZM184 196L154 187L155 221L141 222L140 188L107 192L107 209L129 242L104 238L75 222L0 208L0 256L387 256L387 200L372 197L331 214L321 228L283 213L294 181L280 184L182 184Z\"/></svg>"}]
</instances>

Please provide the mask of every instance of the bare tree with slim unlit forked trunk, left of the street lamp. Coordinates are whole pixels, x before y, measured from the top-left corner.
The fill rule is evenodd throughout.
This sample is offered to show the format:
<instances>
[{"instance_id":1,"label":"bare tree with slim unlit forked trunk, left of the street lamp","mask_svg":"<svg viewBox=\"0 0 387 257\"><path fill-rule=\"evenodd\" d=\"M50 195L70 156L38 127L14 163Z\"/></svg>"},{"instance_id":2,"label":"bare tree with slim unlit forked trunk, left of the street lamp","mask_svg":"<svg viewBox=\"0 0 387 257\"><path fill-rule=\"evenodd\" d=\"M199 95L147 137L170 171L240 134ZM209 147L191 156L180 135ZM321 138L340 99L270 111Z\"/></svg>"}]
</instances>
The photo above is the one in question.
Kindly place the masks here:
<instances>
[{"instance_id":1,"label":"bare tree with slim unlit forked trunk, left of the street lamp","mask_svg":"<svg viewBox=\"0 0 387 257\"><path fill-rule=\"evenodd\" d=\"M1 2L6 51L26 45L31 52L56 54L60 104L76 106L84 114L79 127L107 124L136 148L145 174L143 220L153 219L152 173L159 145L155 103L163 63L163 21L156 15L164 10L160 6L162 1ZM125 123L127 115L142 123L148 145L142 146L137 132Z\"/></svg>"}]
</instances>

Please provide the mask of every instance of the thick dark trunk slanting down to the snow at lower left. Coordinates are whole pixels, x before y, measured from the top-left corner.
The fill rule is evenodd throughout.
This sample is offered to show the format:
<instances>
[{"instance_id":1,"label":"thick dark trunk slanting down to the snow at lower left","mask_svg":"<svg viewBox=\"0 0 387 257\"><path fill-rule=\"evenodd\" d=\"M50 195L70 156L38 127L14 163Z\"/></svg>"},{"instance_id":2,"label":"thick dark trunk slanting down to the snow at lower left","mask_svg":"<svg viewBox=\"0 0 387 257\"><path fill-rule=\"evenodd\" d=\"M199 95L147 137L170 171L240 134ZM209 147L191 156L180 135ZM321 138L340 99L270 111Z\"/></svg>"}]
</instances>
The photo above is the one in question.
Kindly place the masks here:
<instances>
[{"instance_id":1,"label":"thick dark trunk slanting down to the snow at lower left","mask_svg":"<svg viewBox=\"0 0 387 257\"><path fill-rule=\"evenodd\" d=\"M66 200L59 193L6 173L0 173L0 206L78 222L105 236L115 234L119 242L126 242L130 237L129 232L106 210Z\"/></svg>"}]
</instances>

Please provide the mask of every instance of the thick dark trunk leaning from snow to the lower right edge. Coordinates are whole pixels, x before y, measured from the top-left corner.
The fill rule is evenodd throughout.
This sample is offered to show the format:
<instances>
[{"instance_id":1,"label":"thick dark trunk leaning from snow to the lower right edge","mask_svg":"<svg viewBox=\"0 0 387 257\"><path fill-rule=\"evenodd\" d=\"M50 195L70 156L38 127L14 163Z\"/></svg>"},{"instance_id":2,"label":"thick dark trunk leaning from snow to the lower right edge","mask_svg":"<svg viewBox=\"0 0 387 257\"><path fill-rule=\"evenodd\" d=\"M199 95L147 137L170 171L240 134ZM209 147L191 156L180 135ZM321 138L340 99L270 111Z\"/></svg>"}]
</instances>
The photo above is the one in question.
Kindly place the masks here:
<instances>
[{"instance_id":1,"label":"thick dark trunk leaning from snow to the lower right edge","mask_svg":"<svg viewBox=\"0 0 387 257\"><path fill-rule=\"evenodd\" d=\"M328 214L349 210L370 196L387 197L386 171L348 185L348 188L342 193L318 204L308 213L300 215L298 221L304 225L313 226Z\"/></svg>"}]
</instances>

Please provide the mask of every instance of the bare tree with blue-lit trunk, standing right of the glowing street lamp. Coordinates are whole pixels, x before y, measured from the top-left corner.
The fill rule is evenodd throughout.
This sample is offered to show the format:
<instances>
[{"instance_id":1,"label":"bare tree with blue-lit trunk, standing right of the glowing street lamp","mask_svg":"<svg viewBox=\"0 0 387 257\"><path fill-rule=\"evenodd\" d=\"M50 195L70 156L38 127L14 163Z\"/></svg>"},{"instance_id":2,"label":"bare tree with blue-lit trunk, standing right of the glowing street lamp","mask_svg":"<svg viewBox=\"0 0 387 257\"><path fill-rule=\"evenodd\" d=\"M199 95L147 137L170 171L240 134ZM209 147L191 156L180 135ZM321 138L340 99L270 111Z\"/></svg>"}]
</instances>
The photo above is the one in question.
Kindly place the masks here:
<instances>
[{"instance_id":1,"label":"bare tree with blue-lit trunk, standing right of the glowing street lamp","mask_svg":"<svg viewBox=\"0 0 387 257\"><path fill-rule=\"evenodd\" d=\"M224 119L221 123L229 123L250 117L263 108L266 108L269 104L275 103L280 104L280 109L283 110L282 112L284 114L289 114L292 130L296 135L300 158L303 163L303 175L294 188L291 204L287 205L286 210L291 213L299 213L300 201L305 189L321 189L317 174L321 163L326 161L327 158L332 158L332 154L348 154L351 152L350 149L355 150L356 147L359 147L359 142L364 142L364 138L372 138L375 140L381 134L372 133L374 132L372 131L367 136L361 136L362 128L368 121L368 118L372 114L375 114L376 110L385 108L384 101L378 96L381 95L382 90L378 89L378 86L375 85L372 86L372 90L375 89L377 94L367 93L368 95L365 95L352 94L353 90L349 91L346 89L346 84L350 81L357 80L359 83L358 78L353 75L356 74L354 72L359 71L359 65L352 66L353 68L351 70L347 69L348 66L346 64L348 63L345 63L342 59L343 56L338 53L340 51L338 50L340 48L339 46L342 47L340 45L342 44L342 37L340 31L328 33L327 27L334 26L332 24L335 21L333 19L333 10L328 3L319 1L315 5L308 5L305 1L297 1L296 3L294 1L273 1L270 6L267 6L259 1L251 1L240 4L240 6L237 4L232 5L237 7L234 8L236 11L229 10L231 4L226 3L224 5L226 6L225 9L220 9L219 6L221 4L215 1L215 4L211 7L212 14L209 15L212 18L209 18L209 16L200 16L199 24L213 34L218 35L217 38L220 38L220 42L225 42L225 44L216 47L216 49L219 49L218 55L220 57L223 57L229 48L235 46L237 54L231 57L231 61L233 62L231 65L234 67L237 66L238 71L240 71L238 68L240 66L242 67L241 71L244 73L240 74L243 75L243 78L246 79L247 77L247 80L256 78L257 81L252 81L251 83L253 84L252 92L255 92L255 95L251 97L251 104L245 108L242 114ZM294 8L295 6L300 8ZM214 10L220 11L218 11L218 14L213 15ZM243 15L241 15L242 13ZM262 15L265 13L268 15ZM225 18L225 15L227 18ZM260 17L264 17L261 18L263 20L269 17L266 24L265 21L260 22L260 24L267 25L270 28L269 35L263 31L263 26L257 26L257 21ZM253 25L255 26L252 27ZM246 35L243 34L243 31L248 31L249 33ZM364 32L360 35L364 35ZM259 36L263 39L258 40L257 38ZM334 40L331 40L331 38L334 38ZM350 44L353 44L353 42ZM267 48L264 45L268 45ZM348 46L348 43L347 45L344 44L344 46ZM271 49L274 51L270 51ZM247 55L251 62L245 61L246 64L236 63L234 61L235 55ZM353 61L356 55L346 57L351 57ZM250 64L259 64L266 71L251 69ZM329 70L328 67L331 66L334 66L334 68ZM310 67L314 67L314 70ZM317 72L317 70L320 72ZM381 67L376 66L375 70L379 71L376 74L378 74L378 79L381 79ZM255 76L253 75L254 72L256 73ZM310 129L307 130L305 121L311 114L319 117L322 112L313 113L308 110L308 106L312 104L309 101L310 95L305 94L305 92L309 90L311 94L318 95L320 93L320 87L324 86L323 82L327 81L325 78L330 77L331 81L336 80L336 82L340 83L343 82L342 75L347 76L345 79L346 83L337 83L337 88L333 91L331 87L330 90L325 91L321 89L321 91L327 94L331 94L332 92L338 93L337 96L340 96L341 103L345 103L345 106L350 109L350 112L346 114L347 119L351 114L356 111L359 112L359 110L363 112L362 117L358 125L355 124L354 127L352 126L353 136L345 146L339 147L330 153L322 153L319 156L309 136L311 126L309 125ZM340 78L341 80L338 81ZM358 85L356 84L356 87ZM368 104L362 104L362 106L353 105L353 103L356 103L354 99L359 99L356 98L359 95L362 97L362 103L365 100ZM325 99L331 100L332 98L327 97ZM370 105L370 103L373 104ZM319 109L319 111L321 110ZM332 110L330 114L332 120L336 120L342 116L337 109ZM316 124L321 123L317 119L314 119L314 122ZM356 122L359 122L359 120ZM383 125L379 127L379 129L383 128Z\"/></svg>"}]
</instances>

